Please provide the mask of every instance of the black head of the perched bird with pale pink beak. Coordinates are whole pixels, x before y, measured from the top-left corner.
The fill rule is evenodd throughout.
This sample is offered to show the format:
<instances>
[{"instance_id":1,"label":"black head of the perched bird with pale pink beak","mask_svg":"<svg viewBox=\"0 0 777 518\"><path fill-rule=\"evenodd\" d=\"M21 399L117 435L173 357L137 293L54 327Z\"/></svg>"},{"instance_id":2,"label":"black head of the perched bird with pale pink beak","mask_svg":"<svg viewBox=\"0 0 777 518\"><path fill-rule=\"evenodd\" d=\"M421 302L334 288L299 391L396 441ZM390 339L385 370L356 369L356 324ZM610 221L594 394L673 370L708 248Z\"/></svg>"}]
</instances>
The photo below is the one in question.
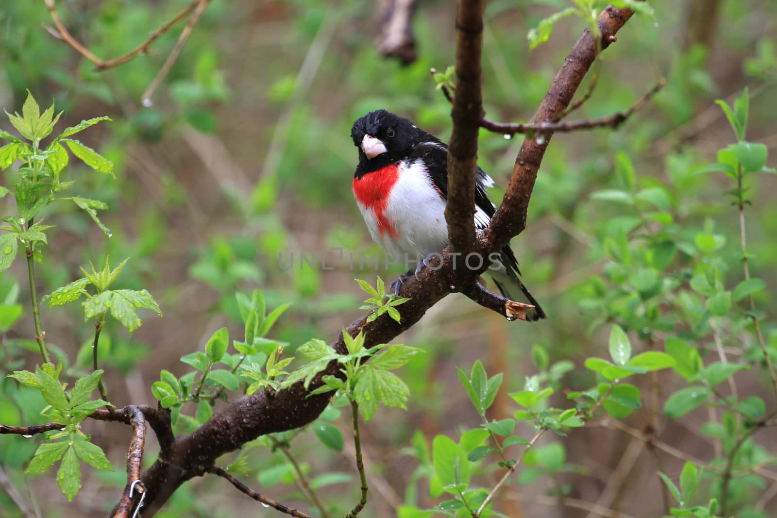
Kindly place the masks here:
<instances>
[{"instance_id":1,"label":"black head of the perched bird with pale pink beak","mask_svg":"<svg viewBox=\"0 0 777 518\"><path fill-rule=\"evenodd\" d=\"M359 164L375 170L400 160L428 134L399 115L376 110L357 119L350 136L359 148Z\"/></svg>"}]
</instances>

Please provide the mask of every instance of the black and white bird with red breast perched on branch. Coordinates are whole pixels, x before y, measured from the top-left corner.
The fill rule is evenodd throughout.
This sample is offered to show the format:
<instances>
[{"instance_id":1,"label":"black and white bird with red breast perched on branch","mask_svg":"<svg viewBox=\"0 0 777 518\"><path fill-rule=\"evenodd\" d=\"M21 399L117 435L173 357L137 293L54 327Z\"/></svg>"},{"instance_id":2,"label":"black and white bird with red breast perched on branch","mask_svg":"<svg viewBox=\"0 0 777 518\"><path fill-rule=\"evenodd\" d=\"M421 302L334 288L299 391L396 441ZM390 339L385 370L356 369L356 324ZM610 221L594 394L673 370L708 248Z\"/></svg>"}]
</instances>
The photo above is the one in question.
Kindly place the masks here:
<instances>
[{"instance_id":1,"label":"black and white bird with red breast perched on branch","mask_svg":"<svg viewBox=\"0 0 777 518\"><path fill-rule=\"evenodd\" d=\"M385 110L370 112L350 130L359 148L354 175L354 195L370 235L390 256L428 258L448 245L445 203L448 197L448 146L407 119ZM496 209L486 187L493 179L478 168L475 190L475 226L486 228ZM458 259L463 267L464 258ZM516 290L535 308L528 320L545 318L535 298L518 278L518 264L510 246L492 254L489 275L504 297L514 299ZM470 264L476 265L476 259ZM421 261L416 274L423 267ZM392 283L395 293L409 271Z\"/></svg>"}]
</instances>

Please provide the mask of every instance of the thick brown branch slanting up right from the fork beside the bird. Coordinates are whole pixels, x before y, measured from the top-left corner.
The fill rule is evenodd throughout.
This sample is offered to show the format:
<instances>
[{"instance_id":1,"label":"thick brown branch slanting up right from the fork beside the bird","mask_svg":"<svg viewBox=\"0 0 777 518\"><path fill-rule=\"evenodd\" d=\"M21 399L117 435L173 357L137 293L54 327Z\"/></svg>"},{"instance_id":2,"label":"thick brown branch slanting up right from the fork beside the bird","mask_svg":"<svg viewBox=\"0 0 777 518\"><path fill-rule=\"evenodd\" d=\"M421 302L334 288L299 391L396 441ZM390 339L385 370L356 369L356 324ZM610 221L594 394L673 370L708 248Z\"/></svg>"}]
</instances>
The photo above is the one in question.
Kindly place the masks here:
<instances>
[{"instance_id":1,"label":"thick brown branch slanting up right from the fork beside the bird","mask_svg":"<svg viewBox=\"0 0 777 518\"><path fill-rule=\"evenodd\" d=\"M615 33L633 14L631 9L616 9L611 5L601 12L599 16L601 42L597 44L591 36L591 31L585 30L564 60L564 66L553 79L545 99L542 100L535 114L533 123L553 122L564 113L580 83L583 82L586 72L594 63L598 54L597 47L607 48L615 40ZM539 165L545 156L545 149L548 148L551 136L552 134L549 134L544 139L537 139L539 142L528 138L521 145L521 151L515 160L513 174L510 177L510 184L507 186L507 193L486 230L486 243L490 248L499 249L506 245L510 238L520 234L526 228L526 213L531 190L534 189Z\"/></svg>"}]
</instances>

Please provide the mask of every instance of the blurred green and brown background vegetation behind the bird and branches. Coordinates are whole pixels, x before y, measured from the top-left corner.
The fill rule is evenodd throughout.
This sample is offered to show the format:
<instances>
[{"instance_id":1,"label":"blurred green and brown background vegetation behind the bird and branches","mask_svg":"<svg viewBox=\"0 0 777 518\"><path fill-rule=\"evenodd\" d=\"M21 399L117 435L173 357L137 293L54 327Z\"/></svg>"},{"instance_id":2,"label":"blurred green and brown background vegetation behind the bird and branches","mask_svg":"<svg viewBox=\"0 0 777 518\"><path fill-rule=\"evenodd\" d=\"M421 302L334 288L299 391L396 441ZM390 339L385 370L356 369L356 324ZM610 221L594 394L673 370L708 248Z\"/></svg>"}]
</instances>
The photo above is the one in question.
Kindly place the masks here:
<instances>
[{"instance_id":1,"label":"blurred green and brown background vegetation behind the bird and branches","mask_svg":"<svg viewBox=\"0 0 777 518\"><path fill-rule=\"evenodd\" d=\"M585 356L606 350L608 327L617 308L591 303L600 286L608 253L603 243L616 230L624 209L592 200L591 193L622 186L615 159L625 153L636 169L639 186L659 186L671 211L695 235L706 221L726 238L725 260L730 276L738 278L736 212L724 194L730 189L723 176L694 176L699 166L714 162L716 151L733 141L723 113L713 99L732 99L745 85L751 91L748 140L767 144L774 155L777 134L777 3L771 0L655 0L655 19L635 18L607 50L598 86L591 100L574 116L604 116L625 110L657 82L667 86L657 98L620 130L593 130L556 135L549 147L529 207L528 229L514 240L526 282L542 301L549 320L534 325L507 323L460 295L447 297L432 308L402 342L423 348L402 372L411 389L408 411L382 409L381 419L363 426L368 478L374 490L368 516L395 516L402 502L431 506L411 445L437 433L456 434L476 426L478 416L467 403L455 367L469 371L482 358L490 374L503 372L504 390L490 410L500 419L514 412L506 391L523 387L535 370L531 346L540 344L552 361L570 360L580 367ZM141 43L150 30L186 5L127 0L61 0L57 11L79 40L100 57L114 57ZM699 11L699 5L706 9ZM712 6L716 16L709 16ZM539 19L566 7L562 0L493 0L486 5L483 98L490 118L529 120L563 63L563 57L583 29L580 20L565 19L549 43L531 52L526 33ZM450 135L450 106L434 89L429 69L444 70L454 56L455 2L429 0L417 5L414 30L418 59L402 66L382 59L375 48L377 22L371 2L226 2L207 7L183 53L153 97L152 106L140 98L174 45L179 29L162 36L147 56L107 71L52 37L51 18L44 2L2 2L0 5L0 106L21 110L30 89L42 106L54 99L64 110L59 125L71 126L92 116L108 115L82 140L114 163L117 180L96 175L83 165L75 175L82 194L99 192L110 205L103 222L113 231L104 238L76 207L57 207L58 231L44 249L39 292L73 280L78 265L112 262L131 257L122 279L125 287L145 287L159 301L163 318L148 318L127 335L110 325L103 331L106 382L116 405L153 403L152 381L164 367L186 372L179 357L203 346L223 325L241 333L235 291L259 287L268 307L290 301L274 329L274 338L289 349L318 337L332 339L360 315L363 294L353 282L375 282L378 273L391 280L401 273L369 267L352 271L350 253L372 256L378 251L358 214L350 181L357 153L350 125L369 110L385 108L409 117L443 140ZM582 93L582 92L581 92ZM5 127L5 129L10 129ZM496 180L493 200L500 200L521 145L483 132L480 165ZM772 167L777 165L770 159ZM13 173L6 171L6 179ZM777 178L752 180L753 208L748 209L748 239L754 276L777 282L772 268L777 254L777 205L771 197ZM2 182L8 185L6 182ZM5 203L6 200L0 201ZM11 202L9 202L11 203ZM342 248L346 264L337 265ZM282 269L278 256L315 253L315 268ZM322 271L321 254L333 270ZM735 273L733 270L736 269ZM23 263L0 279L0 300L29 300ZM10 297L7 295L10 294ZM761 294L759 306L769 316L772 297ZM602 305L605 304L605 305ZM28 306L25 306L27 308ZM68 311L71 311L68 313ZM91 349L85 346L92 329L82 325L78 308L43 310L52 349L68 354L74 372L90 369ZM37 346L28 309L7 338L27 347L24 368L37 362ZM651 329L645 329L646 336ZM777 332L766 329L777 350ZM660 339L660 337L659 337ZM110 342L110 347L106 344ZM110 350L109 350L110 349ZM79 353L81 351L81 353ZM6 366L2 374L7 374ZM19 368L19 365L13 367ZM565 387L587 387L591 372L582 368L566 374ZM666 377L662 395L674 390ZM768 377L737 376L740 390L768 394ZM647 383L647 381L645 381ZM0 422L40 422L44 406L37 391L0 381ZM554 398L564 401L559 391ZM650 408L629 418L643 429ZM336 413L333 415L336 417ZM348 429L347 415L336 419ZM664 441L695 456L709 456L711 440L699 435L706 412L668 422ZM88 422L85 429L120 466L130 434L126 427ZM414 434L416 439L413 439ZM545 436L545 446L556 439ZM414 442L415 441L415 442ZM604 429L581 429L564 441L565 468L557 483L569 495L596 501L629 452L629 436ZM153 441L150 441L153 443ZM110 509L124 473L91 472L75 504L64 506L54 476L25 479L21 468L36 440L3 437L0 466L42 516L103 516ZM765 440L777 451L774 436ZM345 502L357 500L352 450L337 454L322 448L311 433L292 445L295 456L314 483L327 486L322 494ZM145 461L154 459L149 446ZM283 455L257 451L251 457L249 485L284 502L305 506ZM676 475L679 461L668 458L664 471ZM643 450L617 488L618 508L632 516L660 514L660 481L653 457ZM258 475L257 475L258 473ZM319 478L322 474L329 478ZM333 474L343 474L333 476ZM259 480L256 481L258 476ZM495 476L493 474L488 476ZM350 477L350 479L349 479ZM350 481L347 481L350 480ZM316 482L318 481L318 482ZM527 487L518 487L516 481ZM540 495L556 487L552 478L515 478L499 499L507 516L587 516L587 512L545 503L521 501L516 491ZM551 502L552 503L552 502ZM14 516L12 502L0 492L0 509ZM768 510L771 509L771 512ZM166 508L165 516L272 515L255 502L225 488L218 479L197 479L184 485ZM760 514L774 516L777 507ZM164 513L162 513L164 514ZM6 515L7 516L7 515ZM161 516L161 515L160 515Z\"/></svg>"}]
</instances>

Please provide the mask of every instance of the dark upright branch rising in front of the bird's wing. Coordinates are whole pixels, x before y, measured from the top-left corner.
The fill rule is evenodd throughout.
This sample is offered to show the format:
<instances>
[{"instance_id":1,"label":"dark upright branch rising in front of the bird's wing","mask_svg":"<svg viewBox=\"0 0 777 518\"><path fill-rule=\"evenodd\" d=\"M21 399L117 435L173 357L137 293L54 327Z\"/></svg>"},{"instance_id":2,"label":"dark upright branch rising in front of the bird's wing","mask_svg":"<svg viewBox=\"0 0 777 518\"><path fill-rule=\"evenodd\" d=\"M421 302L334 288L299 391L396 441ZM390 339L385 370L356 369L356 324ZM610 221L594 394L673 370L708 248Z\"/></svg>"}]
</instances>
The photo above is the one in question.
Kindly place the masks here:
<instances>
[{"instance_id":1,"label":"dark upright branch rising in front of the bird's wing","mask_svg":"<svg viewBox=\"0 0 777 518\"><path fill-rule=\"evenodd\" d=\"M448 147L448 203L445 220L454 252L467 253L475 242L475 179L478 130L483 118L481 93L484 0L459 0L456 15L456 98Z\"/></svg>"}]
</instances>

